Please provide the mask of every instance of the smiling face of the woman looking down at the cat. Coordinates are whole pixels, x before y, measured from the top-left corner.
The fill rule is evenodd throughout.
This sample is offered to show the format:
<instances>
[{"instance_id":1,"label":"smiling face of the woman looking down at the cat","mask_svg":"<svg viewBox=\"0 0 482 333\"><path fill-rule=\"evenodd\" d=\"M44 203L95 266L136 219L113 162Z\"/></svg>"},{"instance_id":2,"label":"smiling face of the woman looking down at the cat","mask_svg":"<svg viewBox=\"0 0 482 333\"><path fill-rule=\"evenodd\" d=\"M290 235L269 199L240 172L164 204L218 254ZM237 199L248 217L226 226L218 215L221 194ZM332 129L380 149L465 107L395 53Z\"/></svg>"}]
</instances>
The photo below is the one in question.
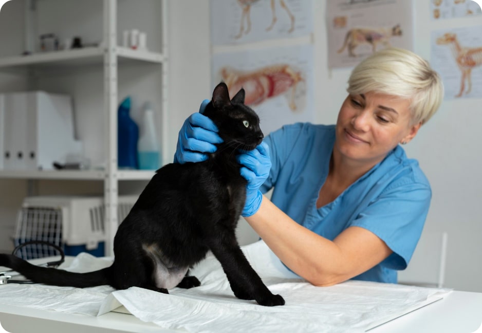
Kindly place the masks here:
<instances>
[{"instance_id":1,"label":"smiling face of the woman looking down at the cat","mask_svg":"<svg viewBox=\"0 0 482 333\"><path fill-rule=\"evenodd\" d=\"M338 114L335 149L350 160L375 165L421 124L411 124L410 100L367 93L348 95Z\"/></svg>"}]
</instances>

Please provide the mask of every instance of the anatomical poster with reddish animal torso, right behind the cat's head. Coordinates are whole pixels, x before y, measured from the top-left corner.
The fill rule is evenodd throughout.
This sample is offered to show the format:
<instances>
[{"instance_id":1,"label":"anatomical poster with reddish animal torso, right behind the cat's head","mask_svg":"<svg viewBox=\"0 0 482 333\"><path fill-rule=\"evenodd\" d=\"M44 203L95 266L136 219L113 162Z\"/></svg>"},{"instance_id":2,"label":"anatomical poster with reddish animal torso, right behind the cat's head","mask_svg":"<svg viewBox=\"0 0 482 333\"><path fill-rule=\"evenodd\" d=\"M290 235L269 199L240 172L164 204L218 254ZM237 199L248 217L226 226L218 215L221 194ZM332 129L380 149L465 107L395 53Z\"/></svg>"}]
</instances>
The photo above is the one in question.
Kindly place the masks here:
<instances>
[{"instance_id":1,"label":"anatomical poster with reddish animal torso, right behind the cat's head","mask_svg":"<svg viewBox=\"0 0 482 333\"><path fill-rule=\"evenodd\" d=\"M285 124L313 121L313 47L274 47L215 53L213 86L226 82L231 98L245 89L265 135Z\"/></svg>"}]
</instances>

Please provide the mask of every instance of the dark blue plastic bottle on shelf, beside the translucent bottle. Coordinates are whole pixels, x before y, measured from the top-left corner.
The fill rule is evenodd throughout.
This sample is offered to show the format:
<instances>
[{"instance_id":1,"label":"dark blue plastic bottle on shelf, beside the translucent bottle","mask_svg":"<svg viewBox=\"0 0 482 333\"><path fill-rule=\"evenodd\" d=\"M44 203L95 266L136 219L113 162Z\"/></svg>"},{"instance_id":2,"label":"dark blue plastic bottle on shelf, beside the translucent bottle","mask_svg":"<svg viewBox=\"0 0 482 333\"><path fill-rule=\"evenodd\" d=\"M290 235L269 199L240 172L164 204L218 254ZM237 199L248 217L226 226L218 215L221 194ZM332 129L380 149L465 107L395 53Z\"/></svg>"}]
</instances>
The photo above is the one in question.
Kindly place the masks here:
<instances>
[{"instance_id":1,"label":"dark blue plastic bottle on shelf, beside the translucent bottle","mask_svg":"<svg viewBox=\"0 0 482 333\"><path fill-rule=\"evenodd\" d=\"M131 98L122 101L117 113L117 165L119 169L139 169L137 141L139 126L132 120Z\"/></svg>"}]
</instances>

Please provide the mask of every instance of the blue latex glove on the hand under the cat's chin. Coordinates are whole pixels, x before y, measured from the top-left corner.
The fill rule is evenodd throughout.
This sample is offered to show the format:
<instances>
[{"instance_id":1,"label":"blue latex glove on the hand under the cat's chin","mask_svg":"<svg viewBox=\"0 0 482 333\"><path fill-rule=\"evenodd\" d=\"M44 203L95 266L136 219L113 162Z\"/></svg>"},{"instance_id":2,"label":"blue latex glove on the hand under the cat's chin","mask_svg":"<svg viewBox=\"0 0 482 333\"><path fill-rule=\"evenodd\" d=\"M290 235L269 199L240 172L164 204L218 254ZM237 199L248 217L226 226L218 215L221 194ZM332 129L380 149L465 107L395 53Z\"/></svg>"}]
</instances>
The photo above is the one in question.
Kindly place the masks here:
<instances>
[{"instance_id":1,"label":"blue latex glove on the hand under the cat's chin","mask_svg":"<svg viewBox=\"0 0 482 333\"><path fill-rule=\"evenodd\" d=\"M269 176L271 169L271 159L269 157L269 146L262 142L256 149L243 152L236 157L237 162L242 164L240 173L248 181L246 186L246 204L241 213L248 217L256 213L263 201L263 194L259 187L263 185Z\"/></svg>"}]
</instances>

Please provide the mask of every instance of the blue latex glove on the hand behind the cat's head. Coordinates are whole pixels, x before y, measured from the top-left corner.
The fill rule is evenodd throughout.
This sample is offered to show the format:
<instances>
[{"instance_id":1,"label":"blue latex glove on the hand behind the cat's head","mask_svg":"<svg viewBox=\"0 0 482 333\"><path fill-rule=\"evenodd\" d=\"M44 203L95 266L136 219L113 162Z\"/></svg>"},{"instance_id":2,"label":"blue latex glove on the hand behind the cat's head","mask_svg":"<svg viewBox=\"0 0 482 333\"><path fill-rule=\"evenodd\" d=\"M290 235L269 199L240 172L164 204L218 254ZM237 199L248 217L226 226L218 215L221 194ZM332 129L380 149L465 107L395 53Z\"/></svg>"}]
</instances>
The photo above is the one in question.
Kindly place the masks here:
<instances>
[{"instance_id":1,"label":"blue latex glove on the hand behind the cat's head","mask_svg":"<svg viewBox=\"0 0 482 333\"><path fill-rule=\"evenodd\" d=\"M208 153L216 151L215 144L223 142L213 121L202 115L209 102L203 100L199 113L192 114L184 121L177 139L174 163L206 161Z\"/></svg>"}]
</instances>

